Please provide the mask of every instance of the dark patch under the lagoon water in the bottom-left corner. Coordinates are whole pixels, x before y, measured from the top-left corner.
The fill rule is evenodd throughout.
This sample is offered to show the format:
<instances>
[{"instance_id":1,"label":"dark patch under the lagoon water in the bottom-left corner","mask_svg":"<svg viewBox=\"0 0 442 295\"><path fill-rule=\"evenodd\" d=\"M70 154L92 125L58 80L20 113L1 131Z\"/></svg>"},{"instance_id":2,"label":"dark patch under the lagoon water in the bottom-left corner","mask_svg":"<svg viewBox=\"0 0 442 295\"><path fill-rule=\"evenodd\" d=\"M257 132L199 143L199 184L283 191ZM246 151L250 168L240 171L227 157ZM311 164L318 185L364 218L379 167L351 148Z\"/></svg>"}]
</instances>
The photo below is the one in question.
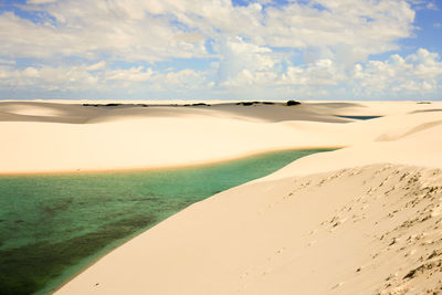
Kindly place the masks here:
<instances>
[{"instance_id":1,"label":"dark patch under the lagoon water in the bottom-left corner","mask_svg":"<svg viewBox=\"0 0 442 295\"><path fill-rule=\"evenodd\" d=\"M123 220L62 242L35 242L1 251L1 294L32 294L63 273L66 264L94 255L115 240L154 222L149 217Z\"/></svg>"}]
</instances>

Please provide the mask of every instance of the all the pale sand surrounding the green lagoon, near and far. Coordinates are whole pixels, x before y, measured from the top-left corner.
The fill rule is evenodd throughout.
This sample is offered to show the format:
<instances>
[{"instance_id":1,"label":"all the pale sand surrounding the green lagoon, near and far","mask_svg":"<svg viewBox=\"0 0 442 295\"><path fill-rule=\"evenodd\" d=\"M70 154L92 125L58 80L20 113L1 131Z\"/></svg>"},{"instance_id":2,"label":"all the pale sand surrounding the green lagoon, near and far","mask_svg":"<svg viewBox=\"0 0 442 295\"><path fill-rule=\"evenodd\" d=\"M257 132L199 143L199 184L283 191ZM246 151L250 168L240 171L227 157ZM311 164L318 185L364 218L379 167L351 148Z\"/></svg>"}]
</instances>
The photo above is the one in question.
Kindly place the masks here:
<instances>
[{"instance_id":1,"label":"all the pale sand surrounding the green lagoon, near and far","mask_svg":"<svg viewBox=\"0 0 442 295\"><path fill-rule=\"evenodd\" d=\"M441 103L12 102L0 103L0 120L2 172L160 167L346 146L187 208L57 294L442 291Z\"/></svg>"}]
</instances>

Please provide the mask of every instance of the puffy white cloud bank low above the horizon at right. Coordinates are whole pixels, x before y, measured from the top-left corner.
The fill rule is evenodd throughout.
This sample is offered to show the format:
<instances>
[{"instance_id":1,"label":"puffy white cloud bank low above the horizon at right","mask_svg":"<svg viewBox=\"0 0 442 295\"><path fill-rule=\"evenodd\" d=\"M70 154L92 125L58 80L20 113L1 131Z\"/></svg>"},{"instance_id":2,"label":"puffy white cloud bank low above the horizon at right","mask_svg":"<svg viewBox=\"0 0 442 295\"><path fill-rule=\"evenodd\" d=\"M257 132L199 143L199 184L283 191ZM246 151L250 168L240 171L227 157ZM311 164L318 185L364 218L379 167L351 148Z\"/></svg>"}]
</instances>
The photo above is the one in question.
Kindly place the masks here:
<instances>
[{"instance_id":1,"label":"puffy white cloud bank low above the horizon at right","mask_svg":"<svg viewBox=\"0 0 442 295\"><path fill-rule=\"evenodd\" d=\"M271 92L294 93L313 98L350 94L366 98L403 98L414 94L435 94L441 88L442 80L439 54L425 49L406 57L392 54L386 61L356 63L350 70L330 59L288 65L284 71L278 65L274 62L260 71L255 62L241 67L223 86L261 89L267 95L272 95Z\"/></svg>"}]
</instances>

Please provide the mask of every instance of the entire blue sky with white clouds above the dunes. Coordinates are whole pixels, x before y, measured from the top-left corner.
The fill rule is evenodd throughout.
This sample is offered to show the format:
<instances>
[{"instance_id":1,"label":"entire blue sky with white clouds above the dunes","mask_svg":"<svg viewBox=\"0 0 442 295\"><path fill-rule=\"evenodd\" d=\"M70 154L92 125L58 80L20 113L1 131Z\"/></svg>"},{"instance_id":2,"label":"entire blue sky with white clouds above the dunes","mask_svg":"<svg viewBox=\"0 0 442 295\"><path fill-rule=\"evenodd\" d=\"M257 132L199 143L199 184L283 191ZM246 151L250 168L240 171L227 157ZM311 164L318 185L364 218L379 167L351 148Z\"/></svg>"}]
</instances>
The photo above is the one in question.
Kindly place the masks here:
<instances>
[{"instance_id":1,"label":"entire blue sky with white clouds above the dunes","mask_svg":"<svg viewBox=\"0 0 442 295\"><path fill-rule=\"evenodd\" d=\"M442 0L0 0L0 99L442 99Z\"/></svg>"}]
</instances>

